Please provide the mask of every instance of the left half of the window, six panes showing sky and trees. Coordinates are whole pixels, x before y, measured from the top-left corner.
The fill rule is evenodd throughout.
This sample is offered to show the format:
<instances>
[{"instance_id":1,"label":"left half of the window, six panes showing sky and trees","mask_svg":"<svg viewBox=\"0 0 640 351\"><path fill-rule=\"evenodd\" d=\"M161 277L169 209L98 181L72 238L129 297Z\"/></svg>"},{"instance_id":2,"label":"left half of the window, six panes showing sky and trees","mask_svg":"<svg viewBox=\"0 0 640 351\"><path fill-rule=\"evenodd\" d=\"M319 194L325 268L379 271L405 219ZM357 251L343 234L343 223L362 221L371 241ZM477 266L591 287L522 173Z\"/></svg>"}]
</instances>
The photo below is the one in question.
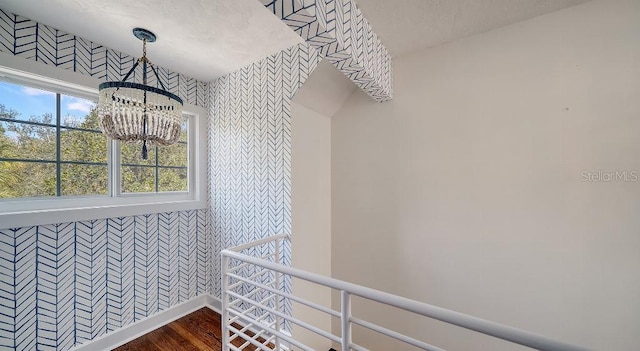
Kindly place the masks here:
<instances>
[{"instance_id":1,"label":"left half of the window, six panes showing sky and trees","mask_svg":"<svg viewBox=\"0 0 640 351\"><path fill-rule=\"evenodd\" d=\"M0 198L107 195L95 102L0 81Z\"/></svg>"}]
</instances>

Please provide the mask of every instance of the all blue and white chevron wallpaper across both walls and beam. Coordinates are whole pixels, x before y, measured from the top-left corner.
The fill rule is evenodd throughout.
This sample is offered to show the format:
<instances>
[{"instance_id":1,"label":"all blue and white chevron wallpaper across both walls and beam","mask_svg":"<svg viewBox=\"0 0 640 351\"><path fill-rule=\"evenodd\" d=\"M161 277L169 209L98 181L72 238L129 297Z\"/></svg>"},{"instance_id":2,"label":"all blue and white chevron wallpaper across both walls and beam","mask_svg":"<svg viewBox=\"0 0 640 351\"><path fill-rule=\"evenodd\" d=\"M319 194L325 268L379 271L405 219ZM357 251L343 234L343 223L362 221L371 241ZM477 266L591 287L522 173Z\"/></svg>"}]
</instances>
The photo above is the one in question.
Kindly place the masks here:
<instances>
[{"instance_id":1,"label":"all blue and white chevron wallpaper across both walls and beam","mask_svg":"<svg viewBox=\"0 0 640 351\"><path fill-rule=\"evenodd\" d=\"M391 98L391 60L353 1L260 1L306 43L211 83L158 72L209 109L210 208L0 228L0 351L68 350L195 296L220 297L223 248L291 232L290 104L319 61ZM0 52L101 80L135 60L1 9ZM281 260L291 263L290 247Z\"/></svg>"}]
</instances>

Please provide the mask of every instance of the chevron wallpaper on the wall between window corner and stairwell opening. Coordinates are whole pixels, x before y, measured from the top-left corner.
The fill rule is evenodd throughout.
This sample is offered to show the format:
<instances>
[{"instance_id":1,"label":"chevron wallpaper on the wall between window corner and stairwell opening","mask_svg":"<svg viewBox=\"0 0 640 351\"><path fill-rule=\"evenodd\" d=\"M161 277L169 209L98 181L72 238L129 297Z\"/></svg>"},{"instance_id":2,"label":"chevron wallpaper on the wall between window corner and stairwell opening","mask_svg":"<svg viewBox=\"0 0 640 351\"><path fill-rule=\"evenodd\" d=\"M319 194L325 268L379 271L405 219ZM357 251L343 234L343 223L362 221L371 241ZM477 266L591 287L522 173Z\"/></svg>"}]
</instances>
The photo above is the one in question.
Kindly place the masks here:
<instances>
[{"instance_id":1,"label":"chevron wallpaper on the wall between window corner and stairwell opening","mask_svg":"<svg viewBox=\"0 0 640 351\"><path fill-rule=\"evenodd\" d=\"M213 254L291 232L291 99L321 57L299 44L211 83ZM266 252L255 252L262 256ZM291 264L291 248L281 253ZM220 277L220 266L214 266ZM212 292L220 296L220 282ZM290 281L283 286L290 292ZM291 311L289 301L284 301Z\"/></svg>"}]
</instances>

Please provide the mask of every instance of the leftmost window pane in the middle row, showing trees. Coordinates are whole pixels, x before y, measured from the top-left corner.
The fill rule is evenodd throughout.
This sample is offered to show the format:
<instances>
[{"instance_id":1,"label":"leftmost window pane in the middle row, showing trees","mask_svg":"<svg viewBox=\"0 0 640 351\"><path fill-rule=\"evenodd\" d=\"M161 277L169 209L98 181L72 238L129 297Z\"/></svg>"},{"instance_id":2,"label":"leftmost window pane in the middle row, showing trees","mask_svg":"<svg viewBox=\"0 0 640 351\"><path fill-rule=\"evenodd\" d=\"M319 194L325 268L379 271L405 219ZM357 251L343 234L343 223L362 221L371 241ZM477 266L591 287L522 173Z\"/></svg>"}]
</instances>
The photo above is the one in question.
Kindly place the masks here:
<instances>
[{"instance_id":1,"label":"leftmost window pane in the middle row, showing trees","mask_svg":"<svg viewBox=\"0 0 640 351\"><path fill-rule=\"evenodd\" d=\"M0 122L0 157L53 161L56 159L56 129Z\"/></svg>"}]
</instances>

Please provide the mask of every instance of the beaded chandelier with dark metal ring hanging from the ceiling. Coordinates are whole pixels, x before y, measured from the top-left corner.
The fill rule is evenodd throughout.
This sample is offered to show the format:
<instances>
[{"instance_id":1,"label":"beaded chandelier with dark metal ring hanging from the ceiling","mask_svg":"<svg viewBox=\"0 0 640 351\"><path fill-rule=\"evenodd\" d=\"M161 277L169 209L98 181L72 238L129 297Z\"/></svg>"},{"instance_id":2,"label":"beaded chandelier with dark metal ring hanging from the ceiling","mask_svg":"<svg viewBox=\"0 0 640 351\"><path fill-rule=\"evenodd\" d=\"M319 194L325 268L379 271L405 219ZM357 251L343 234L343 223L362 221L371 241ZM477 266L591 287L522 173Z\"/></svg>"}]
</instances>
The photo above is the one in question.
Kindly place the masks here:
<instances>
[{"instance_id":1,"label":"beaded chandelier with dark metal ring hanging from the ceiling","mask_svg":"<svg viewBox=\"0 0 640 351\"><path fill-rule=\"evenodd\" d=\"M167 146L180 139L182 99L167 91L158 72L147 58L147 42L156 41L155 34L134 28L133 35L142 40L142 57L131 67L122 81L104 82L98 87L98 117L102 132L124 142L142 141L142 158L147 159L147 144ZM127 79L142 63L142 84ZM147 67L162 89L147 85Z\"/></svg>"}]
</instances>

